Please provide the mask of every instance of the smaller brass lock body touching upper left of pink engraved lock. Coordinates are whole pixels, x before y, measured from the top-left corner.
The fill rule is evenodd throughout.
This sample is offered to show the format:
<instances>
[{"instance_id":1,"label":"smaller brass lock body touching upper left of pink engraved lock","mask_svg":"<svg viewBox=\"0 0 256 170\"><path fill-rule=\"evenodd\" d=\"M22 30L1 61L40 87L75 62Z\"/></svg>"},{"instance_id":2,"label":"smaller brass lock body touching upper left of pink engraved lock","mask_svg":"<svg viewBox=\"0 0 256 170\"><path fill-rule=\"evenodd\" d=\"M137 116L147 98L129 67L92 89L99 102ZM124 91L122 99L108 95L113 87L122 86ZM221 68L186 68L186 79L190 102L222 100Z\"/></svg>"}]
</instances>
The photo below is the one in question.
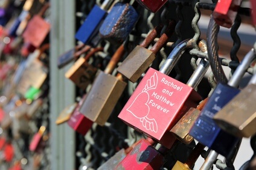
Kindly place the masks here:
<instances>
[{"instance_id":1,"label":"smaller brass lock body touching upper left of pink engraved lock","mask_svg":"<svg viewBox=\"0 0 256 170\"><path fill-rule=\"evenodd\" d=\"M117 71L134 83L149 68L155 58L156 55L151 50L136 46L117 68Z\"/></svg>"}]
</instances>

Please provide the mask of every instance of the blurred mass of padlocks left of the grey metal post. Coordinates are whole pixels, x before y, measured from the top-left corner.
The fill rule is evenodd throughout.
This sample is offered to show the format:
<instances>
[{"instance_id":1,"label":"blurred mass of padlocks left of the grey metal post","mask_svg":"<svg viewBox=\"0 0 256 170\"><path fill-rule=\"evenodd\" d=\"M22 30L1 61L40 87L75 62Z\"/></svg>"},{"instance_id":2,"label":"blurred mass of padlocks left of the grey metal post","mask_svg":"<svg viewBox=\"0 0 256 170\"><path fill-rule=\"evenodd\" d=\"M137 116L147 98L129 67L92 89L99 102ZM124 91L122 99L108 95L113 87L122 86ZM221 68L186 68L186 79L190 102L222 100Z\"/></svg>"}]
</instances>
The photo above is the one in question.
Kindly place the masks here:
<instances>
[{"instance_id":1,"label":"blurred mass of padlocks left of the grey metal post","mask_svg":"<svg viewBox=\"0 0 256 170\"><path fill-rule=\"evenodd\" d=\"M0 169L49 169L47 1L0 3Z\"/></svg>"}]
</instances>

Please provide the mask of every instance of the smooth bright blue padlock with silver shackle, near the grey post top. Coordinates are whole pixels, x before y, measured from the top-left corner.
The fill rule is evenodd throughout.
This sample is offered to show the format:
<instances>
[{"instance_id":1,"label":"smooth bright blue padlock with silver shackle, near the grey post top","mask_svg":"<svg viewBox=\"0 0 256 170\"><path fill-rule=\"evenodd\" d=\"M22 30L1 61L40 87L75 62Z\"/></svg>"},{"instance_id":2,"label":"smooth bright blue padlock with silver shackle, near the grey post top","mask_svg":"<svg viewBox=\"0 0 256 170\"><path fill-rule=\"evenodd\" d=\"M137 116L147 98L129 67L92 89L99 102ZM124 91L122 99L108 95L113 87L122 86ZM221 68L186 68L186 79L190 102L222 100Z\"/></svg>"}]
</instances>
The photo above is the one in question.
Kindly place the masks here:
<instances>
[{"instance_id":1,"label":"smooth bright blue padlock with silver shackle, near the grey post top","mask_svg":"<svg viewBox=\"0 0 256 170\"><path fill-rule=\"evenodd\" d=\"M86 17L85 22L83 22L83 25L80 26L75 34L77 40L82 41L84 44L88 44L95 34L98 34L98 29L100 29L101 23L106 17L106 10L109 9L112 2L113 0L104 0L101 7L94 5L91 12Z\"/></svg>"}]
</instances>

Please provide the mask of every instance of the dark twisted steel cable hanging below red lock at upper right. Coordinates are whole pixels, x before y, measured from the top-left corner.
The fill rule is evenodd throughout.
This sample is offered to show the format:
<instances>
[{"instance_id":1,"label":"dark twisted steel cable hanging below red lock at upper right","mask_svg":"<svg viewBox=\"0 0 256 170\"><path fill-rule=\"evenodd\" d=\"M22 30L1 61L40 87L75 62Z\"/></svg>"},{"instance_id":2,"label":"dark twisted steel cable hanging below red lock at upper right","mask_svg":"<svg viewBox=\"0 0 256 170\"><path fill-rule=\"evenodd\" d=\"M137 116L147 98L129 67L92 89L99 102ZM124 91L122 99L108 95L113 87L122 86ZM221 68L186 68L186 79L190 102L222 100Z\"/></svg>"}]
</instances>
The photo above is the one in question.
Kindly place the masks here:
<instances>
[{"instance_id":1,"label":"dark twisted steel cable hanging below red lock at upper right","mask_svg":"<svg viewBox=\"0 0 256 170\"><path fill-rule=\"evenodd\" d=\"M206 33L208 58L216 81L221 83L227 83L228 79L226 79L218 55L217 34L219 32L219 29L220 26L217 25L213 17L211 17Z\"/></svg>"}]
</instances>

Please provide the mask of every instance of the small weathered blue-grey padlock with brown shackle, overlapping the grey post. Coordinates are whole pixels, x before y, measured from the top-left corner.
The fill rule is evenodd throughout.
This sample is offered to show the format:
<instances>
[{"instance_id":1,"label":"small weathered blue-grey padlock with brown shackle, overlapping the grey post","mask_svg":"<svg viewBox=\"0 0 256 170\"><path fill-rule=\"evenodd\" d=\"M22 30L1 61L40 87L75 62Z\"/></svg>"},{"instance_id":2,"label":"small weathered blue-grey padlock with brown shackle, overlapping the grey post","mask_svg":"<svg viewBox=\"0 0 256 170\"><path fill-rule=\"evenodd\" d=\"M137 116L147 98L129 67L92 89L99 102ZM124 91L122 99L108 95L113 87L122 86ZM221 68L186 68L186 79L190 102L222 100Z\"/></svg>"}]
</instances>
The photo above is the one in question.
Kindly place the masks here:
<instances>
[{"instance_id":1,"label":"small weathered blue-grey padlock with brown shackle, overlapping the grey post","mask_svg":"<svg viewBox=\"0 0 256 170\"><path fill-rule=\"evenodd\" d=\"M69 64L69 62L77 59L82 53L86 53L91 49L90 46L85 46L84 44L79 44L75 46L73 49L68 50L58 57L57 65L58 68L62 68L65 65Z\"/></svg>"}]
</instances>

